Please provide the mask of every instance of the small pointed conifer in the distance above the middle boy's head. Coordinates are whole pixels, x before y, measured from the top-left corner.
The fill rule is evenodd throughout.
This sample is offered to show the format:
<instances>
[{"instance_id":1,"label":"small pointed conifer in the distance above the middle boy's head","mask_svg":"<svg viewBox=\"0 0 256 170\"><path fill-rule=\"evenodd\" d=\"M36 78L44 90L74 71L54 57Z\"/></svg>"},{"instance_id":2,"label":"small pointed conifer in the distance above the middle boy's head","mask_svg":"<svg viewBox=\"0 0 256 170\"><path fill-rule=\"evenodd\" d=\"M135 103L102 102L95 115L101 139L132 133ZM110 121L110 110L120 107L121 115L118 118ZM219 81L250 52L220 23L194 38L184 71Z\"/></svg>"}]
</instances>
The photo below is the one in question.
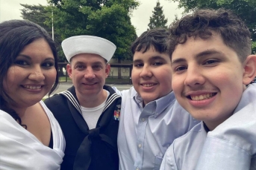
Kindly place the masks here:
<instances>
[{"instance_id":1,"label":"small pointed conifer in the distance above the middle boy's head","mask_svg":"<svg viewBox=\"0 0 256 170\"><path fill-rule=\"evenodd\" d=\"M163 15L163 7L160 6L159 0L157 1L157 5L154 7L154 11L152 11L153 15L150 16L149 19L149 28L148 30L152 30L156 27L165 27L167 28L167 19Z\"/></svg>"}]
</instances>

